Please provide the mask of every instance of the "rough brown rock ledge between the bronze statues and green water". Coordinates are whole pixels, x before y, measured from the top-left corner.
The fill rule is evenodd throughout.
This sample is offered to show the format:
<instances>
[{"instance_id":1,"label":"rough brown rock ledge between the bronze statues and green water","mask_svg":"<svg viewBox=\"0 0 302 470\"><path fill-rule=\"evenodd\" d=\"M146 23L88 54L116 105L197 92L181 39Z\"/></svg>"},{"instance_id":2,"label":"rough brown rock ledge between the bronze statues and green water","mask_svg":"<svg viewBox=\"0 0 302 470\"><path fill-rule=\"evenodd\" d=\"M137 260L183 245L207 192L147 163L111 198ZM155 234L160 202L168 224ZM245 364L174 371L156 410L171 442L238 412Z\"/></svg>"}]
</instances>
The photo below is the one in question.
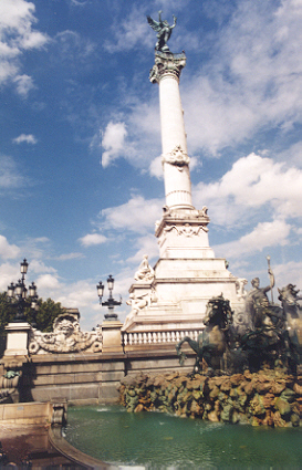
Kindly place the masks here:
<instances>
[{"instance_id":1,"label":"rough brown rock ledge between the bronze statues and green water","mask_svg":"<svg viewBox=\"0 0 302 470\"><path fill-rule=\"evenodd\" d=\"M302 376L261 370L232 376L192 377L139 374L122 380L121 403L128 411L160 410L214 422L300 426Z\"/></svg>"}]
</instances>

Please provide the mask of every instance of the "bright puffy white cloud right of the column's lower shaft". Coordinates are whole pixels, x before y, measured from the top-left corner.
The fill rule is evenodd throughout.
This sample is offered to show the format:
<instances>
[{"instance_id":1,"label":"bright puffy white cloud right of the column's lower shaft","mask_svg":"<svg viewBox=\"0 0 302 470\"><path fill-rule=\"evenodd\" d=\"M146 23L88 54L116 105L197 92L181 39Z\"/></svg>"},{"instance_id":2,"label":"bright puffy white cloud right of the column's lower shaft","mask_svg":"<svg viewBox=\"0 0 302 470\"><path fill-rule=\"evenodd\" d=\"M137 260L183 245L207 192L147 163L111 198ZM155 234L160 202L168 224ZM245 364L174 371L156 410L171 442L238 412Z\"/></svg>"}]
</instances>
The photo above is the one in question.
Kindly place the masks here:
<instances>
[{"instance_id":1,"label":"bright puffy white cloud right of the column's lower shaft","mask_svg":"<svg viewBox=\"0 0 302 470\"><path fill-rule=\"evenodd\" d=\"M264 207L279 218L301 217L301 198L302 170L256 154L239 158L219 181L194 188L194 201L227 227L248 223Z\"/></svg>"}]
</instances>

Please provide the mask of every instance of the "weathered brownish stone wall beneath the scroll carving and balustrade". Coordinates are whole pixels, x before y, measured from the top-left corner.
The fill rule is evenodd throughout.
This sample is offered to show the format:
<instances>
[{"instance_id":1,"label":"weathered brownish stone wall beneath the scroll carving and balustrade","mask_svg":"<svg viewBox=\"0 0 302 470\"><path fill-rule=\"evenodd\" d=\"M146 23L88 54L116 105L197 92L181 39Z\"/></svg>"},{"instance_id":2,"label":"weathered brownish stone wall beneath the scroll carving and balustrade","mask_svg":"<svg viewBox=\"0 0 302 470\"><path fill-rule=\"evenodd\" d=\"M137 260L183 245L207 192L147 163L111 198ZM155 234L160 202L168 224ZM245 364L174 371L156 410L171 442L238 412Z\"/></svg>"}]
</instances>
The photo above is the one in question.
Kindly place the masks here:
<instances>
[{"instance_id":1,"label":"weathered brownish stone wall beneath the scroll carving and balustrade","mask_svg":"<svg viewBox=\"0 0 302 470\"><path fill-rule=\"evenodd\" d=\"M190 372L192 364L194 354L188 352L183 370ZM9 367L8 358L6 365ZM127 353L31 355L23 364L20 401L117 403L117 387L126 375L167 373L179 367L174 345L158 345L153 351L136 348Z\"/></svg>"}]
</instances>

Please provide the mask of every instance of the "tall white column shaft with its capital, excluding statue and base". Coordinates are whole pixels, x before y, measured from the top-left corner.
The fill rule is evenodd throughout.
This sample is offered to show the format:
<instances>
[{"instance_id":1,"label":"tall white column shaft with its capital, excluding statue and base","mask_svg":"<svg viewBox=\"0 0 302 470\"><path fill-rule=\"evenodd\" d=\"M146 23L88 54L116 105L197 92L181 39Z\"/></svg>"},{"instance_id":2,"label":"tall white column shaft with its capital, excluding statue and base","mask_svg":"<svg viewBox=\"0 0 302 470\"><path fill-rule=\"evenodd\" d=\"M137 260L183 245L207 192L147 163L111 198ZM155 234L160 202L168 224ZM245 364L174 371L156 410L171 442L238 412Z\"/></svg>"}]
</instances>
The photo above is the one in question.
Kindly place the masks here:
<instances>
[{"instance_id":1,"label":"tall white column shaft with its capital, excluding statue and base","mask_svg":"<svg viewBox=\"0 0 302 470\"><path fill-rule=\"evenodd\" d=\"M150 82L159 85L163 169L166 205L174 209L192 209L189 157L179 76L186 55L156 51Z\"/></svg>"}]
</instances>

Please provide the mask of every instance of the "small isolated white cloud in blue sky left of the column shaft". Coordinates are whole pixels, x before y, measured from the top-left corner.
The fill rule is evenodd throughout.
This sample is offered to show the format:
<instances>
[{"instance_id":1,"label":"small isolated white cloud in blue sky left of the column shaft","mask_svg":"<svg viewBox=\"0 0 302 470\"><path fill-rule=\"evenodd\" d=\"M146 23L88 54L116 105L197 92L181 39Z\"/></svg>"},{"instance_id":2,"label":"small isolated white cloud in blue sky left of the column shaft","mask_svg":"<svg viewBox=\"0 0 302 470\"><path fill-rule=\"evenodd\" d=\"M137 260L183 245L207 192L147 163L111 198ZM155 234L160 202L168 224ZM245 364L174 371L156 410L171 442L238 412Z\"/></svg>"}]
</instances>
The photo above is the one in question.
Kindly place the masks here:
<instances>
[{"instance_id":1,"label":"small isolated white cloud in blue sky left of the column shaft","mask_svg":"<svg viewBox=\"0 0 302 470\"><path fill-rule=\"evenodd\" d=\"M102 155L102 165L104 168L122 155L126 136L125 123L110 122L107 124L102 139L102 147L105 149Z\"/></svg>"}]
</instances>

